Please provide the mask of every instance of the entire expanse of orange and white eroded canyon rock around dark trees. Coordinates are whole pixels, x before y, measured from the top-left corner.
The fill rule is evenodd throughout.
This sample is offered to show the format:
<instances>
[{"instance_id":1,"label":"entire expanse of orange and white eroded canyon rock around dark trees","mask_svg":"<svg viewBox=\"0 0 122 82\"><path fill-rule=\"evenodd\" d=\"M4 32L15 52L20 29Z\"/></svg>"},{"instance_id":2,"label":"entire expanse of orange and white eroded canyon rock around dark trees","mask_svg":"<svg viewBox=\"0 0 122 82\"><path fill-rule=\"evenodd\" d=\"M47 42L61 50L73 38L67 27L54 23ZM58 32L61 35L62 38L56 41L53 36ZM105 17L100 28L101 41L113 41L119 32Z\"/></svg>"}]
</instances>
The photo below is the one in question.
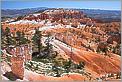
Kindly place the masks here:
<instances>
[{"instance_id":1,"label":"entire expanse of orange and white eroded canyon rock around dark trees","mask_svg":"<svg viewBox=\"0 0 122 82\"><path fill-rule=\"evenodd\" d=\"M16 20L16 19L15 19ZM105 75L119 74L120 72L120 23L97 23L98 21L88 18L83 12L75 10L54 9L46 10L43 13L35 13L18 18L17 21L2 23L3 30L10 28L13 37L16 32L24 32L26 38L32 40L35 29L42 31L42 43L45 45L45 38L50 33L51 44L57 51L57 58L60 62L71 59L78 64L85 62L86 70L91 74L92 79L105 78ZM89 76L70 74L60 77L43 75L40 71L25 70L25 62L31 61L32 47L23 45L9 49L11 57L11 71L21 79L29 81L37 80L87 80ZM6 54L2 55L6 58ZM48 60L50 61L50 60ZM42 62L42 61L41 61ZM35 63L35 61L34 61ZM34 64L36 66L36 64ZM40 65L43 68L46 64ZM52 64L50 65L52 66ZM49 67L50 67L49 66ZM34 66L33 66L34 67ZM37 65L38 67L38 65ZM18 70L19 69L19 70ZM34 71L34 72L33 72ZM37 72L37 73L35 73ZM87 79L86 79L87 78Z\"/></svg>"}]
</instances>

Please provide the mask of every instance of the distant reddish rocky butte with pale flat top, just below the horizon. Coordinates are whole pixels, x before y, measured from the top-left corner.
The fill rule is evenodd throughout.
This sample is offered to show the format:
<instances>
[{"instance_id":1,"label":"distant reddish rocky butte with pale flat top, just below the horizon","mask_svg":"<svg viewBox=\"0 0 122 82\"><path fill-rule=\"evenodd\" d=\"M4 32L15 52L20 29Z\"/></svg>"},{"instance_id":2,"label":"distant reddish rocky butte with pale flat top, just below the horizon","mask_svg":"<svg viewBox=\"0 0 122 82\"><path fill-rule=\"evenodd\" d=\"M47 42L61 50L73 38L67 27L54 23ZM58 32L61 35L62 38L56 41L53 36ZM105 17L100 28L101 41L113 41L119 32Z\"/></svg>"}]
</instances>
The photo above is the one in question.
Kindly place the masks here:
<instances>
[{"instance_id":1,"label":"distant reddish rocky butte with pale flat top, just below the horizon","mask_svg":"<svg viewBox=\"0 0 122 82\"><path fill-rule=\"evenodd\" d=\"M79 24L87 24L91 26L94 21L90 18L87 18L86 15L82 11L76 10L46 10L43 13L31 14L23 18L24 20L35 20L40 22L41 20L51 20L51 22L59 22L61 24L70 24L72 26L78 27Z\"/></svg>"}]
</instances>

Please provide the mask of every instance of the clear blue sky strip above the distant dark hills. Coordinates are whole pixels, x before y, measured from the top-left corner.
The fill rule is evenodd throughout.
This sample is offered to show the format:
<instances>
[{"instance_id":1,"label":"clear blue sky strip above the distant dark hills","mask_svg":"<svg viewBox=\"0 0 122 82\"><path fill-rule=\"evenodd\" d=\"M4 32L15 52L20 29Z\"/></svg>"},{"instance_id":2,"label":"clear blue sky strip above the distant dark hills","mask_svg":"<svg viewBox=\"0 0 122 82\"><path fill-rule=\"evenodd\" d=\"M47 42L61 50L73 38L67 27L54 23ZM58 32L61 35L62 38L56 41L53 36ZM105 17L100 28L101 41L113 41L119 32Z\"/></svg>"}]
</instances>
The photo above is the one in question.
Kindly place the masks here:
<instances>
[{"instance_id":1,"label":"clear blue sky strip above the distant dark hills","mask_svg":"<svg viewBox=\"0 0 122 82\"><path fill-rule=\"evenodd\" d=\"M35 7L49 8L81 8L121 10L120 0L31 0L31 1L2 1L2 9L24 9Z\"/></svg>"}]
</instances>

